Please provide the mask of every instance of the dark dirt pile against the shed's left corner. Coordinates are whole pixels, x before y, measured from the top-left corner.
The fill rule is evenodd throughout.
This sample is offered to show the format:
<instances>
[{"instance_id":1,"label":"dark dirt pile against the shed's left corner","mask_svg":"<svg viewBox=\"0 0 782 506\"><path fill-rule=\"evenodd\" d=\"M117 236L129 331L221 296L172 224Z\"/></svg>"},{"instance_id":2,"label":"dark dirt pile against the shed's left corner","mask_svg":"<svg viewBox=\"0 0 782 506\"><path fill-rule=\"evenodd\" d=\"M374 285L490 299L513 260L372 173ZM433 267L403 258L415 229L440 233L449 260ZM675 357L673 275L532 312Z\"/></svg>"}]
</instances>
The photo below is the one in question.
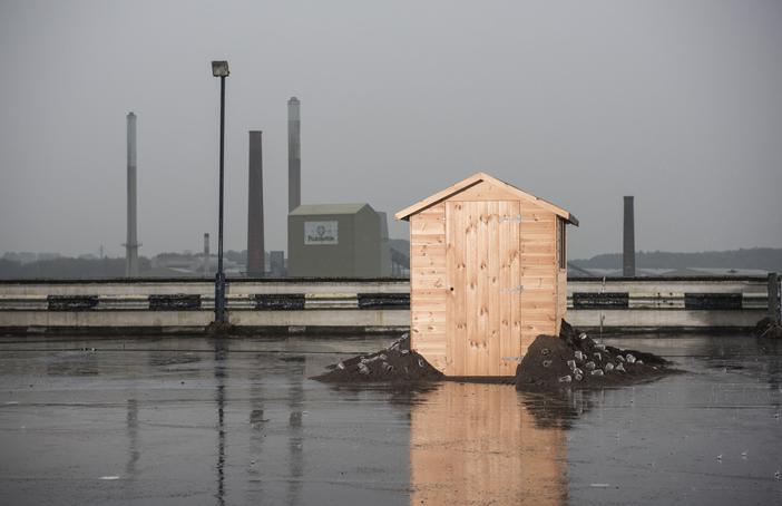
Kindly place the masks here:
<instances>
[{"instance_id":1,"label":"dark dirt pile against the shed's left corner","mask_svg":"<svg viewBox=\"0 0 782 506\"><path fill-rule=\"evenodd\" d=\"M377 353L353 357L328 367L329 372L312 379L324 382L414 382L443 379L442 372L427 359L410 351L410 335L404 334L389 348Z\"/></svg>"}]
</instances>

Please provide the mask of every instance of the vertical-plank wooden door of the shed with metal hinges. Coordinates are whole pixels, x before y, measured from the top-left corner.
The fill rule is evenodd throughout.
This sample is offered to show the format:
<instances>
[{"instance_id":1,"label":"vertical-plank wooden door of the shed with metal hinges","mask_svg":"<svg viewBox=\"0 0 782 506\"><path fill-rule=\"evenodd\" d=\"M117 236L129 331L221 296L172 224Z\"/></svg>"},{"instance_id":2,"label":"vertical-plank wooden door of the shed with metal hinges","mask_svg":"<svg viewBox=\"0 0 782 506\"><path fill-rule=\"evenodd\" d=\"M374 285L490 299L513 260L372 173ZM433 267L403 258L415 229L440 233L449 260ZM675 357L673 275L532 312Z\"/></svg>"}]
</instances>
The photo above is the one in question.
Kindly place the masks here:
<instances>
[{"instance_id":1,"label":"vertical-plank wooden door of the shed with metal hinges","mask_svg":"<svg viewBox=\"0 0 782 506\"><path fill-rule=\"evenodd\" d=\"M448 376L516 373L519 222L517 201L446 203Z\"/></svg>"}]
</instances>

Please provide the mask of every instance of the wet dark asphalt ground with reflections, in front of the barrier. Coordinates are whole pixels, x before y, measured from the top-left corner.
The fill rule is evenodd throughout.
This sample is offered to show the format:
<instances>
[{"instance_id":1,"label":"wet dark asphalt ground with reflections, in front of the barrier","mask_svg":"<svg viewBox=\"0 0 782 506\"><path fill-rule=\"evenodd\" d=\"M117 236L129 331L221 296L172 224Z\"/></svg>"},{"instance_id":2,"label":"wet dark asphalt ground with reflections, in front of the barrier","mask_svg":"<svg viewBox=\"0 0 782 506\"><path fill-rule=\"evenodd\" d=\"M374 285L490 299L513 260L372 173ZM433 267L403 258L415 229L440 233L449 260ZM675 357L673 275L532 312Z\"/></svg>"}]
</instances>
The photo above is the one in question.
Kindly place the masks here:
<instances>
[{"instance_id":1,"label":"wet dark asphalt ground with reflections, in front of the barrier","mask_svg":"<svg viewBox=\"0 0 782 506\"><path fill-rule=\"evenodd\" d=\"M782 343L560 398L307 379L391 339L3 338L0 504L782 504Z\"/></svg>"}]
</instances>

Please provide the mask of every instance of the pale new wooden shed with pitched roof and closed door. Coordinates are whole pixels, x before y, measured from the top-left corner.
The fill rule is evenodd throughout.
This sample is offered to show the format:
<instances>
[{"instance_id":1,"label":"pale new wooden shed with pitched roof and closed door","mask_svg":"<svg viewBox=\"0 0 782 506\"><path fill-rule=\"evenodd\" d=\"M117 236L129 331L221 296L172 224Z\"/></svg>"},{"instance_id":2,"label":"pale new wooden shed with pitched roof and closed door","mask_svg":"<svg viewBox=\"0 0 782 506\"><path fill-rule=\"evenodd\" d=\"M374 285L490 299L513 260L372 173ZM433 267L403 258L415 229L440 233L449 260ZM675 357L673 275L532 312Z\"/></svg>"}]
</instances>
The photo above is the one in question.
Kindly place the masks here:
<instances>
[{"instance_id":1,"label":"pale new wooden shed with pitched roof and closed door","mask_svg":"<svg viewBox=\"0 0 782 506\"><path fill-rule=\"evenodd\" d=\"M410 222L411 348L447 376L514 376L567 310L567 211L478 173Z\"/></svg>"}]
</instances>

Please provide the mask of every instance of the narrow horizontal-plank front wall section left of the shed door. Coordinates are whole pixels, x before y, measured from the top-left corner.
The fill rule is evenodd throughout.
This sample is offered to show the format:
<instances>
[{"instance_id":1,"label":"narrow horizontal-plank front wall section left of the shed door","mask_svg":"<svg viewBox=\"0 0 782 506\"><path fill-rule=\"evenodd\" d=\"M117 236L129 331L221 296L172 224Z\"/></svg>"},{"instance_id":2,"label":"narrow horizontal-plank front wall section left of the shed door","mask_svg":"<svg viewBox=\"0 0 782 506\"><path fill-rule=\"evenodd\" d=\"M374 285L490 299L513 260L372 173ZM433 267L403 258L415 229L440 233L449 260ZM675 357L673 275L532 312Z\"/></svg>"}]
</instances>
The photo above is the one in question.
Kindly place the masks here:
<instances>
[{"instance_id":1,"label":"narrow horizontal-plank front wall section left of the shed door","mask_svg":"<svg viewBox=\"0 0 782 506\"><path fill-rule=\"evenodd\" d=\"M446 372L446 204L410 216L410 346Z\"/></svg>"}]
</instances>

